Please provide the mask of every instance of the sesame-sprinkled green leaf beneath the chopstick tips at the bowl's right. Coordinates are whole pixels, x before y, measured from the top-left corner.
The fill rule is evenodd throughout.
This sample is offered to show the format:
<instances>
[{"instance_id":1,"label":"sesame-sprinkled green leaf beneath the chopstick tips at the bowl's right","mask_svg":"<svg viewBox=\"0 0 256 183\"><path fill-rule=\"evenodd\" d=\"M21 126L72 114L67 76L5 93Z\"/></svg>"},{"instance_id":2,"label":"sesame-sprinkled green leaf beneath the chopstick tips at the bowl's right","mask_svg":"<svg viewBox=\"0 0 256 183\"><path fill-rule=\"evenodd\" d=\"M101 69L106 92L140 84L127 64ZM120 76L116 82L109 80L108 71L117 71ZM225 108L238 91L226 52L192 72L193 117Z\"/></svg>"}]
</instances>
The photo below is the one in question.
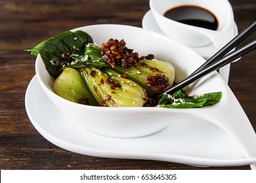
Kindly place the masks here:
<instances>
[{"instance_id":1,"label":"sesame-sprinkled green leaf beneath the chopstick tips at the bowl's right","mask_svg":"<svg viewBox=\"0 0 256 183\"><path fill-rule=\"evenodd\" d=\"M156 107L165 108L196 108L215 105L221 101L222 93L213 92L202 95L188 96L185 90L179 90L173 95L165 94Z\"/></svg>"}]
</instances>

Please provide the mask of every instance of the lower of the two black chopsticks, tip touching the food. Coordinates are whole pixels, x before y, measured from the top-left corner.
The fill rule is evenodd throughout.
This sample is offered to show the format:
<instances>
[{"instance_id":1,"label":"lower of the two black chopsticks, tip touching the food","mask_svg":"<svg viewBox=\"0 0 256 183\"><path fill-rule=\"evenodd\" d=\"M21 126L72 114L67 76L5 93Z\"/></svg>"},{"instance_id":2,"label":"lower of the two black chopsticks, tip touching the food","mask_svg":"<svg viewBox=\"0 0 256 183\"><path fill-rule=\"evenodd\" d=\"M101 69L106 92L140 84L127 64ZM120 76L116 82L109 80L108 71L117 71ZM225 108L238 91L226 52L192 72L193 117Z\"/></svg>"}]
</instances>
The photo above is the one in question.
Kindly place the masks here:
<instances>
[{"instance_id":1,"label":"lower of the two black chopsticks, tip touching the food","mask_svg":"<svg viewBox=\"0 0 256 183\"><path fill-rule=\"evenodd\" d=\"M201 78L202 76L205 76L213 71L216 71L217 69L223 67L224 65L230 63L231 61L234 61L235 59L238 59L241 56L244 56L245 54L251 52L255 48L256 48L256 39L238 48L237 50L234 50L234 52L227 54L223 58L219 58L217 59L217 61L203 67L202 69L200 69L200 71L194 73L193 75L188 76L186 79L182 80L172 88L169 88L169 90L166 90L165 92L161 93L159 97L165 93L172 94L174 92L177 92L178 90L184 88L185 86L188 86L188 84L191 84L198 78Z\"/></svg>"}]
</instances>

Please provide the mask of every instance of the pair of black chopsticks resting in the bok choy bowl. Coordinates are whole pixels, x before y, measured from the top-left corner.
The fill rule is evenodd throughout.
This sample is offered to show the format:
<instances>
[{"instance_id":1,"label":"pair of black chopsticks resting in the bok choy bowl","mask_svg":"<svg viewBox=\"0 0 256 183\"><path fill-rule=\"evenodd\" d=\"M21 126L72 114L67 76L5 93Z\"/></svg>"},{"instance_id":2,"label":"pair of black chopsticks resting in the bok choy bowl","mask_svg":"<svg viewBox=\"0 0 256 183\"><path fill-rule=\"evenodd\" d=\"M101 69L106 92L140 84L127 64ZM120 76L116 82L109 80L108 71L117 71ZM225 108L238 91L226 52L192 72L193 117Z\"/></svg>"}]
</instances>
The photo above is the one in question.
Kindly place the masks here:
<instances>
[{"instance_id":1,"label":"pair of black chopsticks resting in the bok choy bowl","mask_svg":"<svg viewBox=\"0 0 256 183\"><path fill-rule=\"evenodd\" d=\"M201 65L198 69L196 69L194 73L192 73L190 76L188 76L181 82L175 84L172 88L169 88L169 90L166 90L165 92L161 93L159 97L161 97L161 95L165 93L172 94L174 92L177 92L178 90L184 88L185 86L188 86L188 84L191 84L192 82L198 80L198 78L201 78L202 76L205 76L213 71L216 71L217 69L220 69L224 65L254 50L256 48L256 39L253 39L253 41L245 44L244 46L241 46L240 48L234 50L233 52L230 52L246 37L251 35L251 33L255 31L255 29L256 29L256 21L254 21L252 24L245 27L245 29L242 30L236 37L234 37L234 39L228 42L228 44L223 46L221 50L219 50L211 58L205 61L205 63L203 63L203 65Z\"/></svg>"}]
</instances>

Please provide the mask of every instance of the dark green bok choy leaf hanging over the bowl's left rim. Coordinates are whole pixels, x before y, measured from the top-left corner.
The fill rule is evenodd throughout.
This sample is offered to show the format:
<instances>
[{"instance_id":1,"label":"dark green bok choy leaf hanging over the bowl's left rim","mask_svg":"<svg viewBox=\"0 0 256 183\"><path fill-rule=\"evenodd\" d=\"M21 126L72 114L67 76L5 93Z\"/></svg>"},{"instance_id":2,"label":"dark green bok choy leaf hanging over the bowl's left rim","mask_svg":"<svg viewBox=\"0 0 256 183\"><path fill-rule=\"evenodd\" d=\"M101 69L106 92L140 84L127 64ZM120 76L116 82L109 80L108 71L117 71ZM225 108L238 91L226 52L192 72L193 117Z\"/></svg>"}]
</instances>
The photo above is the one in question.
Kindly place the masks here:
<instances>
[{"instance_id":1,"label":"dark green bok choy leaf hanging over the bowl's left rim","mask_svg":"<svg viewBox=\"0 0 256 183\"><path fill-rule=\"evenodd\" d=\"M72 63L72 56L83 55L85 44L93 42L84 31L66 31L47 39L30 50L32 55L40 54L50 75L58 76L64 65Z\"/></svg>"}]
</instances>

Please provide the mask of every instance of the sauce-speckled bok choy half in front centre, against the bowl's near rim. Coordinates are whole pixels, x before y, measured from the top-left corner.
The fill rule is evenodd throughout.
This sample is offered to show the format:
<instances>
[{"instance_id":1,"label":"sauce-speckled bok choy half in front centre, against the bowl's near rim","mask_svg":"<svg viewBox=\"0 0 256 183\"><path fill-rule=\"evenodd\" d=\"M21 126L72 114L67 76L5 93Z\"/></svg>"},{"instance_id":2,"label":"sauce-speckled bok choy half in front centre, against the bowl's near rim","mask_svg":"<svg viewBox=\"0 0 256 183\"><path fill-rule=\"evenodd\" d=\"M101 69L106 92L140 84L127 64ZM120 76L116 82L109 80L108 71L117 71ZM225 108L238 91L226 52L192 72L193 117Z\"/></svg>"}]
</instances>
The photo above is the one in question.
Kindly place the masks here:
<instances>
[{"instance_id":1,"label":"sauce-speckled bok choy half in front centre, against the bowl's near rim","mask_svg":"<svg viewBox=\"0 0 256 183\"><path fill-rule=\"evenodd\" d=\"M81 75L100 105L105 107L143 107L148 97L139 84L123 78L112 69L85 68Z\"/></svg>"}]
</instances>

